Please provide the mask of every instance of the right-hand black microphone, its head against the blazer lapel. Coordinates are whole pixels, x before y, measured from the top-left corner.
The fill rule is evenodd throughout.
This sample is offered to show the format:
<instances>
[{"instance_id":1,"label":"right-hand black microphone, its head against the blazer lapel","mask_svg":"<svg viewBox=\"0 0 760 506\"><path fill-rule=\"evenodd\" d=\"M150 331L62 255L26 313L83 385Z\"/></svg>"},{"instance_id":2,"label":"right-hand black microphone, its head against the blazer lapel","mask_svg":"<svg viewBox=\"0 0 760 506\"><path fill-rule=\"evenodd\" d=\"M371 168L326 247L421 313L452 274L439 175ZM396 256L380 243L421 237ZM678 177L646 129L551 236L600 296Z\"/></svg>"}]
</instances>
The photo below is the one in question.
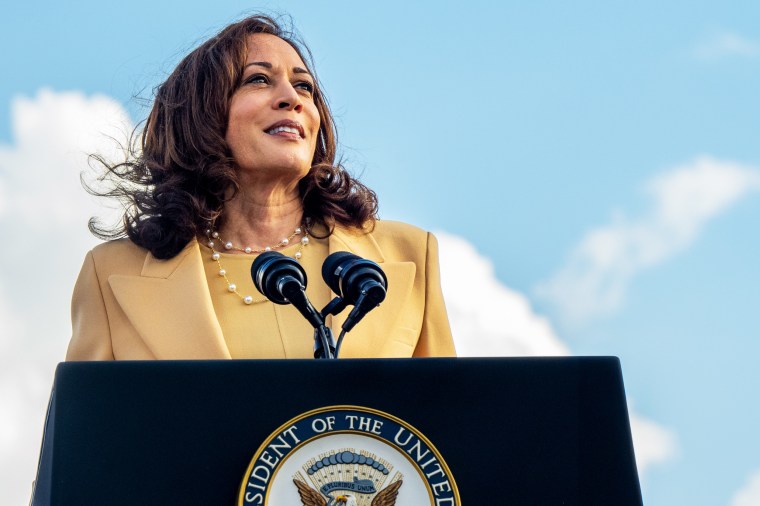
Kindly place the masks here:
<instances>
[{"instance_id":1,"label":"right-hand black microphone, its head against the blazer lapel","mask_svg":"<svg viewBox=\"0 0 760 506\"><path fill-rule=\"evenodd\" d=\"M328 256L322 264L322 278L345 304L354 308L343 323L343 333L350 332L364 315L385 300L388 279L375 262L347 251Z\"/></svg>"}]
</instances>

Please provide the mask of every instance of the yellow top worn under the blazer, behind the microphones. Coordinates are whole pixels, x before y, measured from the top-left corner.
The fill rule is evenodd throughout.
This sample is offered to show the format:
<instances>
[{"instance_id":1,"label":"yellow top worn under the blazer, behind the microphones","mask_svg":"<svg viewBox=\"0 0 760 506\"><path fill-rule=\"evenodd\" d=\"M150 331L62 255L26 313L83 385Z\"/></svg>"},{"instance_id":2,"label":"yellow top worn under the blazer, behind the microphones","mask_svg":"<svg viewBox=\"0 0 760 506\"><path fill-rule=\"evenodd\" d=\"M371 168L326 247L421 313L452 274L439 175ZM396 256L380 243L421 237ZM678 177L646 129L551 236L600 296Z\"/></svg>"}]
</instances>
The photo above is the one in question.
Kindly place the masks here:
<instances>
[{"instance_id":1,"label":"yellow top worn under the blazer, behind the microphones","mask_svg":"<svg viewBox=\"0 0 760 506\"><path fill-rule=\"evenodd\" d=\"M298 243L283 248L280 253L294 257ZM322 263L327 258L327 239L309 237L309 244L302 249L301 266L306 271L306 295L317 309L321 310L330 301L330 289L322 280ZM254 286L251 279L251 264L256 255L219 252L219 263L211 258L211 249L201 245L203 268L206 272L208 289L214 312L222 327L224 341L232 358L285 358L283 326L278 321L274 303L266 299ZM219 265L226 271L227 279L237 286L240 296L253 297L252 304L245 304L240 296L227 288L227 281L219 275ZM297 338L303 341L299 356L313 358L314 330L293 306L284 308L285 317L292 318L298 325ZM292 314L291 314L292 313ZM282 313L279 313L282 314ZM336 336L337 337L337 336Z\"/></svg>"}]
</instances>

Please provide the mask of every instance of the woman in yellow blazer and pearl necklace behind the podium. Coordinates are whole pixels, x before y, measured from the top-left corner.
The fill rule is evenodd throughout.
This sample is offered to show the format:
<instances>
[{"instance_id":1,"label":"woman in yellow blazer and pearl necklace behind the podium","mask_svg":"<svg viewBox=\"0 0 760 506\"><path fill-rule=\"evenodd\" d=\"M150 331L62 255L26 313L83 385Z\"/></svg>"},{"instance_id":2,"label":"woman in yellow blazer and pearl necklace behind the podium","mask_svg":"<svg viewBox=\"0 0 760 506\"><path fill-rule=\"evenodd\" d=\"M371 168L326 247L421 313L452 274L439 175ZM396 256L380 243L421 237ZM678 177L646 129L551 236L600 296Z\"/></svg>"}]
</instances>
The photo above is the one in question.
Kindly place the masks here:
<instances>
[{"instance_id":1,"label":"woman in yellow blazer and pearl necklace behind the podium","mask_svg":"<svg viewBox=\"0 0 760 506\"><path fill-rule=\"evenodd\" d=\"M319 274L330 253L383 268L388 296L341 357L454 354L435 238L376 221L375 194L335 165L333 120L304 54L274 20L253 16L158 88L141 150L107 166L108 195L128 204L124 225L91 230L127 238L85 259L68 360L311 357L308 322L253 287L251 262L268 250L301 262L317 308L331 298Z\"/></svg>"}]
</instances>

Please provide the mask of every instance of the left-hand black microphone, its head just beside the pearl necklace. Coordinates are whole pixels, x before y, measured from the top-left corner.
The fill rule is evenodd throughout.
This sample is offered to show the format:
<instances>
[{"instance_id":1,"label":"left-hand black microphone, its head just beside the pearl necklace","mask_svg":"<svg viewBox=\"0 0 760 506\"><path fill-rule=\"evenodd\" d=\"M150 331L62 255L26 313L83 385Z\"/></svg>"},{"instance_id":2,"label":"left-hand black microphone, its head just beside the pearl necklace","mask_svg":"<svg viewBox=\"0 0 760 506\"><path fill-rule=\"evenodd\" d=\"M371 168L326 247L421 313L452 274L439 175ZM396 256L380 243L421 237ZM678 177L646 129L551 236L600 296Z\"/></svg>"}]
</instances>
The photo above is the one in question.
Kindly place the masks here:
<instances>
[{"instance_id":1,"label":"left-hand black microphone, its head just beside the pearl necklace","mask_svg":"<svg viewBox=\"0 0 760 506\"><path fill-rule=\"evenodd\" d=\"M277 251L262 253L251 265L256 289L275 304L293 304L312 327L325 322L306 297L306 271L301 264Z\"/></svg>"}]
</instances>

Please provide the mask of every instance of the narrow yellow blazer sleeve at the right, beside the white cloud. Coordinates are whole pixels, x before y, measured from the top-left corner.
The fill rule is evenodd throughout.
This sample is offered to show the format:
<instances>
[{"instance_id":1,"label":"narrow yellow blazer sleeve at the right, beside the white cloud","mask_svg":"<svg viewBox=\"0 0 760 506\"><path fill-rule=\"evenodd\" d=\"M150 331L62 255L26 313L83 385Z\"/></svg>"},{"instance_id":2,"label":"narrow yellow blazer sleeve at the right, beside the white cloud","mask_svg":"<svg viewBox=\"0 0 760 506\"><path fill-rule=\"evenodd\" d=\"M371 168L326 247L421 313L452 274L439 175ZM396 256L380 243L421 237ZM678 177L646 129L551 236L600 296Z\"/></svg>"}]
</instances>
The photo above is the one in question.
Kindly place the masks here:
<instances>
[{"instance_id":1,"label":"narrow yellow blazer sleeve at the right, beside the white cloud","mask_svg":"<svg viewBox=\"0 0 760 506\"><path fill-rule=\"evenodd\" d=\"M428 232L425 259L425 310L414 357L455 357L454 339L443 302L438 240Z\"/></svg>"}]
</instances>

